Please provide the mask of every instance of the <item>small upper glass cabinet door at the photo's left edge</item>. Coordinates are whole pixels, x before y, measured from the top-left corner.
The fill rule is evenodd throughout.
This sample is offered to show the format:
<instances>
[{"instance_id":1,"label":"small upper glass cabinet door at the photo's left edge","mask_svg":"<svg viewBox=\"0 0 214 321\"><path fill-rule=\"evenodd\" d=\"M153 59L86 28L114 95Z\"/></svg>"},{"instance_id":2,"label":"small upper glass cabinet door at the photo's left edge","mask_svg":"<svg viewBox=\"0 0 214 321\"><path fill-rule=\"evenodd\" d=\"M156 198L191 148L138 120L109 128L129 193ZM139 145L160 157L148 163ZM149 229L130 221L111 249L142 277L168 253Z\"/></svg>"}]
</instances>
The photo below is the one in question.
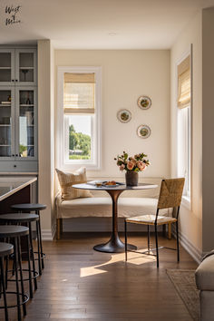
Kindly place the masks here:
<instances>
[{"instance_id":1,"label":"small upper glass cabinet door at the photo's left edge","mask_svg":"<svg viewBox=\"0 0 214 321\"><path fill-rule=\"evenodd\" d=\"M0 49L0 85L15 83L15 49Z\"/></svg>"}]
</instances>

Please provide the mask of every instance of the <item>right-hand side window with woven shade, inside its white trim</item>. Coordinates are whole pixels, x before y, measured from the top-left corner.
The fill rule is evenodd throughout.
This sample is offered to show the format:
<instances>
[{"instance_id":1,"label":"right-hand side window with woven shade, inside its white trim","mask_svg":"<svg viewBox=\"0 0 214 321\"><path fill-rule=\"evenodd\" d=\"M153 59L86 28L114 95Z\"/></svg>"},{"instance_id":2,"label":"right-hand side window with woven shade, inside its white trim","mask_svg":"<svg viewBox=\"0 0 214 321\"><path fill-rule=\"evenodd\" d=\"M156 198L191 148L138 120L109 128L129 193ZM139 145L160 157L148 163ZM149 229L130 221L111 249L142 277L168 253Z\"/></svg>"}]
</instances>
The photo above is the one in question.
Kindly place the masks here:
<instances>
[{"instance_id":1,"label":"right-hand side window with woven shade, inside its white trim","mask_svg":"<svg viewBox=\"0 0 214 321\"><path fill-rule=\"evenodd\" d=\"M178 176L185 178L183 195L190 201L191 189L191 76L190 54L181 61L178 72Z\"/></svg>"}]
</instances>

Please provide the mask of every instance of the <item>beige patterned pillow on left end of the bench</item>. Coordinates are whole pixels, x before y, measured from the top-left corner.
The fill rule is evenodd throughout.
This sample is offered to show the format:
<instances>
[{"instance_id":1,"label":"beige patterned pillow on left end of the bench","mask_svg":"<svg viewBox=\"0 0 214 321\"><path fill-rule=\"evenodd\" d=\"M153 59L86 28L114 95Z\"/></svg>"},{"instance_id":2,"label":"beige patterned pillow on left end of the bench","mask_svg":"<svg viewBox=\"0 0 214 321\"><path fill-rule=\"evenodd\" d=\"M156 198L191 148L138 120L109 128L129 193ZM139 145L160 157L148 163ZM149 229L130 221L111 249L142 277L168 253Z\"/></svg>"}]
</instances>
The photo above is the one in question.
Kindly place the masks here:
<instances>
[{"instance_id":1,"label":"beige patterned pillow on left end of the bench","mask_svg":"<svg viewBox=\"0 0 214 321\"><path fill-rule=\"evenodd\" d=\"M60 182L62 199L92 198L92 194L89 190L73 189L73 184L87 182L85 167L81 167L79 170L75 170L72 173L66 173L58 169L55 170Z\"/></svg>"}]
</instances>

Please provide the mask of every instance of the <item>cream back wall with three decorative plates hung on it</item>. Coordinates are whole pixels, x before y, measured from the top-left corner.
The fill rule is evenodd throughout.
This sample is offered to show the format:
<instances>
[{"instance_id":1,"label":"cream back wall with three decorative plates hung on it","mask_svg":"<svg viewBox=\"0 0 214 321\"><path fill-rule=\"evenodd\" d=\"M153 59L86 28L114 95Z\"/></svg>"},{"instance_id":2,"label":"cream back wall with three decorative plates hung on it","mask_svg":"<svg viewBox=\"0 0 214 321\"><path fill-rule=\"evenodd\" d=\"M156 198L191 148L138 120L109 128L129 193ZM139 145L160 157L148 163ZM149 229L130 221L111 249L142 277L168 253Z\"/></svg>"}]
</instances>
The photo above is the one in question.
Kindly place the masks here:
<instances>
[{"instance_id":1,"label":"cream back wall with three decorative plates hung on it","mask_svg":"<svg viewBox=\"0 0 214 321\"><path fill-rule=\"evenodd\" d=\"M140 175L170 175L170 51L168 50L55 50L57 66L102 66L102 170L91 177L123 177L113 158L128 151L148 154L151 166ZM55 81L56 89L56 81ZM57 91L55 91L57 92ZM142 111L137 99L151 97L151 109ZM57 97L55 97L57 108ZM131 111L131 122L117 120L121 109ZM56 114L56 113L55 113ZM142 140L137 127L147 124L151 137ZM62 130L58 128L57 131ZM71 168L72 170L72 168Z\"/></svg>"}]
</instances>

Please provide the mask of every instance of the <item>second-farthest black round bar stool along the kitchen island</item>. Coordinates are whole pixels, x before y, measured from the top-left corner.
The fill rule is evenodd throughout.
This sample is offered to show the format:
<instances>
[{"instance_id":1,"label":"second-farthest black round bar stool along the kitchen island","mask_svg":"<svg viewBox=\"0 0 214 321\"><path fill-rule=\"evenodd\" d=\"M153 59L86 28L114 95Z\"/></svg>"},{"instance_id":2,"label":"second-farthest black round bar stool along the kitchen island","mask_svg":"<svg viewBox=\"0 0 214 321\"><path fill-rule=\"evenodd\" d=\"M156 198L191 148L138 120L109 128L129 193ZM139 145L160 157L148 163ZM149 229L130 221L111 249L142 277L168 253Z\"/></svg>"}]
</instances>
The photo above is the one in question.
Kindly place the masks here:
<instances>
[{"instance_id":1,"label":"second-farthest black round bar stool along the kitchen island","mask_svg":"<svg viewBox=\"0 0 214 321\"><path fill-rule=\"evenodd\" d=\"M20 225L20 224L27 224L27 227L29 229L29 240L30 240L30 258L32 258L33 262L33 269L31 269L30 263L28 261L28 269L23 268L23 271L27 271L29 274L28 278L24 278L24 281L29 281L29 289L30 289L30 297L33 298L33 286L32 286L32 279L34 279L34 290L37 289L37 281L36 277L39 276L38 272L35 270L35 264L34 264L34 248L33 248L33 240L32 240L32 222L36 222L39 220L39 216L36 214L25 214L25 213L10 213L10 214L3 214L0 215L0 221L6 223L6 224L14 224L14 225ZM38 237L39 230L38 226L36 225L36 236ZM32 277L32 273L34 274L34 277ZM8 281L15 281L14 279L9 279ZM7 268L6 268L6 282L7 282Z\"/></svg>"}]
</instances>

